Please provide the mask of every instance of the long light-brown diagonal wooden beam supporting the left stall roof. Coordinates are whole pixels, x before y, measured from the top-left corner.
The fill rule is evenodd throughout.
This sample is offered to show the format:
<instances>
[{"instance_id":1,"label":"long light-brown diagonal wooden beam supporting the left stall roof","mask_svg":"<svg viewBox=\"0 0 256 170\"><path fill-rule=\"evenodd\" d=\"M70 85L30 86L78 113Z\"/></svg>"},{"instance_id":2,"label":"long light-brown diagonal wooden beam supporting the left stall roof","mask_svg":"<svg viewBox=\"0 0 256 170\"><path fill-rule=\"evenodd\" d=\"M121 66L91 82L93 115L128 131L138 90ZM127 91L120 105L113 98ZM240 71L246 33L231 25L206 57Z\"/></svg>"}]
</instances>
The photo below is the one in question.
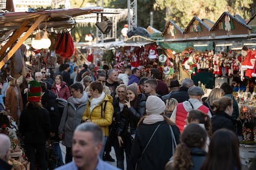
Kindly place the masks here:
<instances>
[{"instance_id":1,"label":"long light-brown diagonal wooden beam supporting the left stall roof","mask_svg":"<svg viewBox=\"0 0 256 170\"><path fill-rule=\"evenodd\" d=\"M27 32L22 36L22 38L20 38L20 41L18 41L14 47L12 47L11 51L8 52L8 54L4 57L4 59L1 60L0 62L0 68L2 68L4 66L4 64L11 59L12 55L14 55L14 53L17 51L17 49L19 49L19 47L21 46L21 44L28 38L28 36L30 36L30 34L36 29L36 27L38 25L40 25L40 23L45 20L47 15L40 15L40 17L38 17L35 21L35 23L33 23L32 26L30 26L30 28L27 30Z\"/></svg>"}]
</instances>

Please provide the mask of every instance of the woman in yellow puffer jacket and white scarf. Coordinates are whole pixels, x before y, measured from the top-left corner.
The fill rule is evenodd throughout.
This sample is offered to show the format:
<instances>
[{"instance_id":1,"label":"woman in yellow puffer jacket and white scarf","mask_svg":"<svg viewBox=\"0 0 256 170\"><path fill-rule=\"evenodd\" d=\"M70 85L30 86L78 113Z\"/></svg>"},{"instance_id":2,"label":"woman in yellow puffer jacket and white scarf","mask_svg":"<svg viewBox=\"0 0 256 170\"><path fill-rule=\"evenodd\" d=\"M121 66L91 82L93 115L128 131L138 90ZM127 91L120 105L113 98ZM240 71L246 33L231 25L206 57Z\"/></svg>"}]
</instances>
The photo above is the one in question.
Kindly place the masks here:
<instances>
[{"instance_id":1,"label":"woman in yellow puffer jacket and white scarf","mask_svg":"<svg viewBox=\"0 0 256 170\"><path fill-rule=\"evenodd\" d=\"M113 120L113 98L103 92L103 85L99 81L93 81L90 84L90 93L92 97L88 100L82 120L98 124L103 130L104 142L100 152L100 158L102 159L106 140L109 136L108 126L111 125Z\"/></svg>"}]
</instances>

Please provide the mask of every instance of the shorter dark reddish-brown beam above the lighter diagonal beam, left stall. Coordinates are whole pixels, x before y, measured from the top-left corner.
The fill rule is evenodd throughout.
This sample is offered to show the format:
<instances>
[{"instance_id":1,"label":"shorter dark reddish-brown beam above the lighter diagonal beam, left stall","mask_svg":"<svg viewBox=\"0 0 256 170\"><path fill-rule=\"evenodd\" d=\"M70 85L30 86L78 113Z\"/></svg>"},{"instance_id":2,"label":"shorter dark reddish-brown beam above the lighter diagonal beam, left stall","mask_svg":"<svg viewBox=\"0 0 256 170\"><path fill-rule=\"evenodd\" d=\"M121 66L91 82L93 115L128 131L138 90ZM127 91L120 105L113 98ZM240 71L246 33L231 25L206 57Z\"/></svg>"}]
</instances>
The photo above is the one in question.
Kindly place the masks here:
<instances>
[{"instance_id":1,"label":"shorter dark reddish-brown beam above the lighter diagonal beam, left stall","mask_svg":"<svg viewBox=\"0 0 256 170\"><path fill-rule=\"evenodd\" d=\"M4 46L0 49L0 61L4 59L4 53L6 52L8 47L11 47L12 44L14 44L17 39L24 33L25 31L28 30L27 28L28 20L22 23L20 25L20 28L14 32L14 34L11 36L11 38L4 44Z\"/></svg>"}]
</instances>

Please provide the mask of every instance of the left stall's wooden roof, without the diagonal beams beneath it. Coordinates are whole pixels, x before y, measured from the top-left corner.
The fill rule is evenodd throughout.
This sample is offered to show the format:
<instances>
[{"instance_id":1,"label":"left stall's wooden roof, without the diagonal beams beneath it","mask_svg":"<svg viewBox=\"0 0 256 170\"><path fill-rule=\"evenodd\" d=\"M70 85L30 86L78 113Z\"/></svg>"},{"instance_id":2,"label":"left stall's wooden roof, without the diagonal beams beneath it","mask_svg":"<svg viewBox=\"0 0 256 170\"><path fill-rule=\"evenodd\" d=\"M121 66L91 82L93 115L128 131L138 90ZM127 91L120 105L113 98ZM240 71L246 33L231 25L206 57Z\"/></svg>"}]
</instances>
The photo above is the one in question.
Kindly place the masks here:
<instances>
[{"instance_id":1,"label":"left stall's wooden roof, without the diagonal beams beneath it","mask_svg":"<svg viewBox=\"0 0 256 170\"><path fill-rule=\"evenodd\" d=\"M103 11L103 7L0 13L0 35L9 30L17 30L27 20L28 24L26 26L32 26L40 15L47 16L45 20L48 28L70 28L75 24L73 17L101 11ZM38 26L40 26L40 29L45 28L45 22L41 22Z\"/></svg>"}]
</instances>

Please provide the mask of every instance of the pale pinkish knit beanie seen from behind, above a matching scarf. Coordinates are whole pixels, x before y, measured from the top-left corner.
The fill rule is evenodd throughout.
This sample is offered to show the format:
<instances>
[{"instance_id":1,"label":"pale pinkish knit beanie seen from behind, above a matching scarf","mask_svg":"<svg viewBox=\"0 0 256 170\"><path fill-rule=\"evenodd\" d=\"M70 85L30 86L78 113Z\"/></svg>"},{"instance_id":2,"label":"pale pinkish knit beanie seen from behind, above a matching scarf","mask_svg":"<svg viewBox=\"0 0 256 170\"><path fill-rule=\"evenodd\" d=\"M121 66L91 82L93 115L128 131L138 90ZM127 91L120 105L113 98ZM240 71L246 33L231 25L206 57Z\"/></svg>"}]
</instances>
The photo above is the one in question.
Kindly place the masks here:
<instances>
[{"instance_id":1,"label":"pale pinkish knit beanie seen from behind, above a matching scarf","mask_svg":"<svg viewBox=\"0 0 256 170\"><path fill-rule=\"evenodd\" d=\"M148 96L148 99L146 101L146 112L147 115L152 114L158 114L164 113L165 110L165 104L163 100L161 100L156 95L150 95Z\"/></svg>"}]
</instances>

